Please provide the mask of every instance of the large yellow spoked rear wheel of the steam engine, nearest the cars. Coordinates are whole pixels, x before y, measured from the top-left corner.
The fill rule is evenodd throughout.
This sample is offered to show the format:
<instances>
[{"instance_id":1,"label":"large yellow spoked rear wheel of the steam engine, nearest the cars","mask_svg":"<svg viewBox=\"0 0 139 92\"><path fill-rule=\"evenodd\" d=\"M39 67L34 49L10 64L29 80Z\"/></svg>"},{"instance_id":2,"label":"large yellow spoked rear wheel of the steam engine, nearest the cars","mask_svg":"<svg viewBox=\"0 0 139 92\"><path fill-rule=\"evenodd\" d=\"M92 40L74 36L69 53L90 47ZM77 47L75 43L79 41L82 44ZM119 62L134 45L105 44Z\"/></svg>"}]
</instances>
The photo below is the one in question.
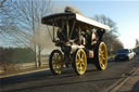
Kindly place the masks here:
<instances>
[{"instance_id":1,"label":"large yellow spoked rear wheel of the steam engine, nearest the cars","mask_svg":"<svg viewBox=\"0 0 139 92\"><path fill-rule=\"evenodd\" d=\"M104 42L100 42L94 51L96 67L99 70L104 70L108 66L108 51Z\"/></svg>"}]
</instances>

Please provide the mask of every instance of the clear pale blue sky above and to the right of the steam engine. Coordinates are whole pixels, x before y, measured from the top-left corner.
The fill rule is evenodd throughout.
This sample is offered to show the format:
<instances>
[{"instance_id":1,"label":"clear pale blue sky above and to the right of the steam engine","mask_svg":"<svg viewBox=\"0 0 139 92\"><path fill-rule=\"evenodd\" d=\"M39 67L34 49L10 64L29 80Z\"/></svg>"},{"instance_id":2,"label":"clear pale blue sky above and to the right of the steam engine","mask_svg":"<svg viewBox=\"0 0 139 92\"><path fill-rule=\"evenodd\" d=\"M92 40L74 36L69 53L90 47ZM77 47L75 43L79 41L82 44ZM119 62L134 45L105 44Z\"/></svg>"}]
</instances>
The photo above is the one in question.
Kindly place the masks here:
<instances>
[{"instance_id":1,"label":"clear pale blue sky above and to the right of the steam engine","mask_svg":"<svg viewBox=\"0 0 139 92\"><path fill-rule=\"evenodd\" d=\"M124 48L132 49L139 39L139 0L55 0L72 5L86 16L105 15L116 23Z\"/></svg>"}]
</instances>

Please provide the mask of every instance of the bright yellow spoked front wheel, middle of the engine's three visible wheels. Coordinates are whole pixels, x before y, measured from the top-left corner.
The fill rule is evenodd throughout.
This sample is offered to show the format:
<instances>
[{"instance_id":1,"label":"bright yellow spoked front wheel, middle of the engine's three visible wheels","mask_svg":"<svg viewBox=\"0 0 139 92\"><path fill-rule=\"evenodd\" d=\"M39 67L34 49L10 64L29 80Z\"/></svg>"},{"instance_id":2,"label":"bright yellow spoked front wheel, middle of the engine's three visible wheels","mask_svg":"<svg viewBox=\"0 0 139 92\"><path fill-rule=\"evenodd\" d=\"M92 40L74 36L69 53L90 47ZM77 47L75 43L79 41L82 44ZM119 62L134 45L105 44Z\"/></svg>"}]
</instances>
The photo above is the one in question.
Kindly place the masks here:
<instances>
[{"instance_id":1,"label":"bright yellow spoked front wheel, middle of the engine's three visible wheels","mask_svg":"<svg viewBox=\"0 0 139 92\"><path fill-rule=\"evenodd\" d=\"M75 53L75 61L74 61L75 71L78 75L84 75L87 68L87 56L86 52L83 49L78 49Z\"/></svg>"}]
</instances>

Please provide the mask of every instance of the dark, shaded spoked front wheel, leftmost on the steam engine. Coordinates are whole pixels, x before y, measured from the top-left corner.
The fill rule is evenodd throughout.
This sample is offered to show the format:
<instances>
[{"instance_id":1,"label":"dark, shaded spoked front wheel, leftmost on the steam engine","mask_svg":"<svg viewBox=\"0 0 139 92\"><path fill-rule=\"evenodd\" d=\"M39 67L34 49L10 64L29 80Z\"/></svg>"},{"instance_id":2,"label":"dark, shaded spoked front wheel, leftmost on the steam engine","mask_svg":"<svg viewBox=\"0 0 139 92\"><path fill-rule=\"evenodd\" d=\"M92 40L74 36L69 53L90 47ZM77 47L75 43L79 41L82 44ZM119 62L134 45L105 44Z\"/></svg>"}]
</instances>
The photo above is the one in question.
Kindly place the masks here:
<instances>
[{"instance_id":1,"label":"dark, shaded spoked front wheel, leftmost on the steam engine","mask_svg":"<svg viewBox=\"0 0 139 92\"><path fill-rule=\"evenodd\" d=\"M64 67L63 54L60 50L52 51L49 58L49 67L54 75L61 74Z\"/></svg>"}]
</instances>

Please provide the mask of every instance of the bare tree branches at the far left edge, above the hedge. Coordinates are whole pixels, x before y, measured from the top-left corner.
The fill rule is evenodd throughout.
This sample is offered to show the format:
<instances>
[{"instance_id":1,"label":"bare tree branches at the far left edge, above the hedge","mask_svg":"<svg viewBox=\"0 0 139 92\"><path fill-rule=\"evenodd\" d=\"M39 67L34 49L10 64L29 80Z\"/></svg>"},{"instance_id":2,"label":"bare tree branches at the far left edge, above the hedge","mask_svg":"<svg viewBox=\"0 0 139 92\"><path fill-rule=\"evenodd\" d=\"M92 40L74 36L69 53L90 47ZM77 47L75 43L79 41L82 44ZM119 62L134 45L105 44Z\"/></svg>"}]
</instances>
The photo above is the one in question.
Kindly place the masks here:
<instances>
[{"instance_id":1,"label":"bare tree branches at the far left edge, above the hedge","mask_svg":"<svg viewBox=\"0 0 139 92\"><path fill-rule=\"evenodd\" d=\"M10 28L12 28L14 23L14 1L12 0L0 0L0 41L1 47L11 42L11 36L9 35ZM10 43L11 44L11 43Z\"/></svg>"}]
</instances>

